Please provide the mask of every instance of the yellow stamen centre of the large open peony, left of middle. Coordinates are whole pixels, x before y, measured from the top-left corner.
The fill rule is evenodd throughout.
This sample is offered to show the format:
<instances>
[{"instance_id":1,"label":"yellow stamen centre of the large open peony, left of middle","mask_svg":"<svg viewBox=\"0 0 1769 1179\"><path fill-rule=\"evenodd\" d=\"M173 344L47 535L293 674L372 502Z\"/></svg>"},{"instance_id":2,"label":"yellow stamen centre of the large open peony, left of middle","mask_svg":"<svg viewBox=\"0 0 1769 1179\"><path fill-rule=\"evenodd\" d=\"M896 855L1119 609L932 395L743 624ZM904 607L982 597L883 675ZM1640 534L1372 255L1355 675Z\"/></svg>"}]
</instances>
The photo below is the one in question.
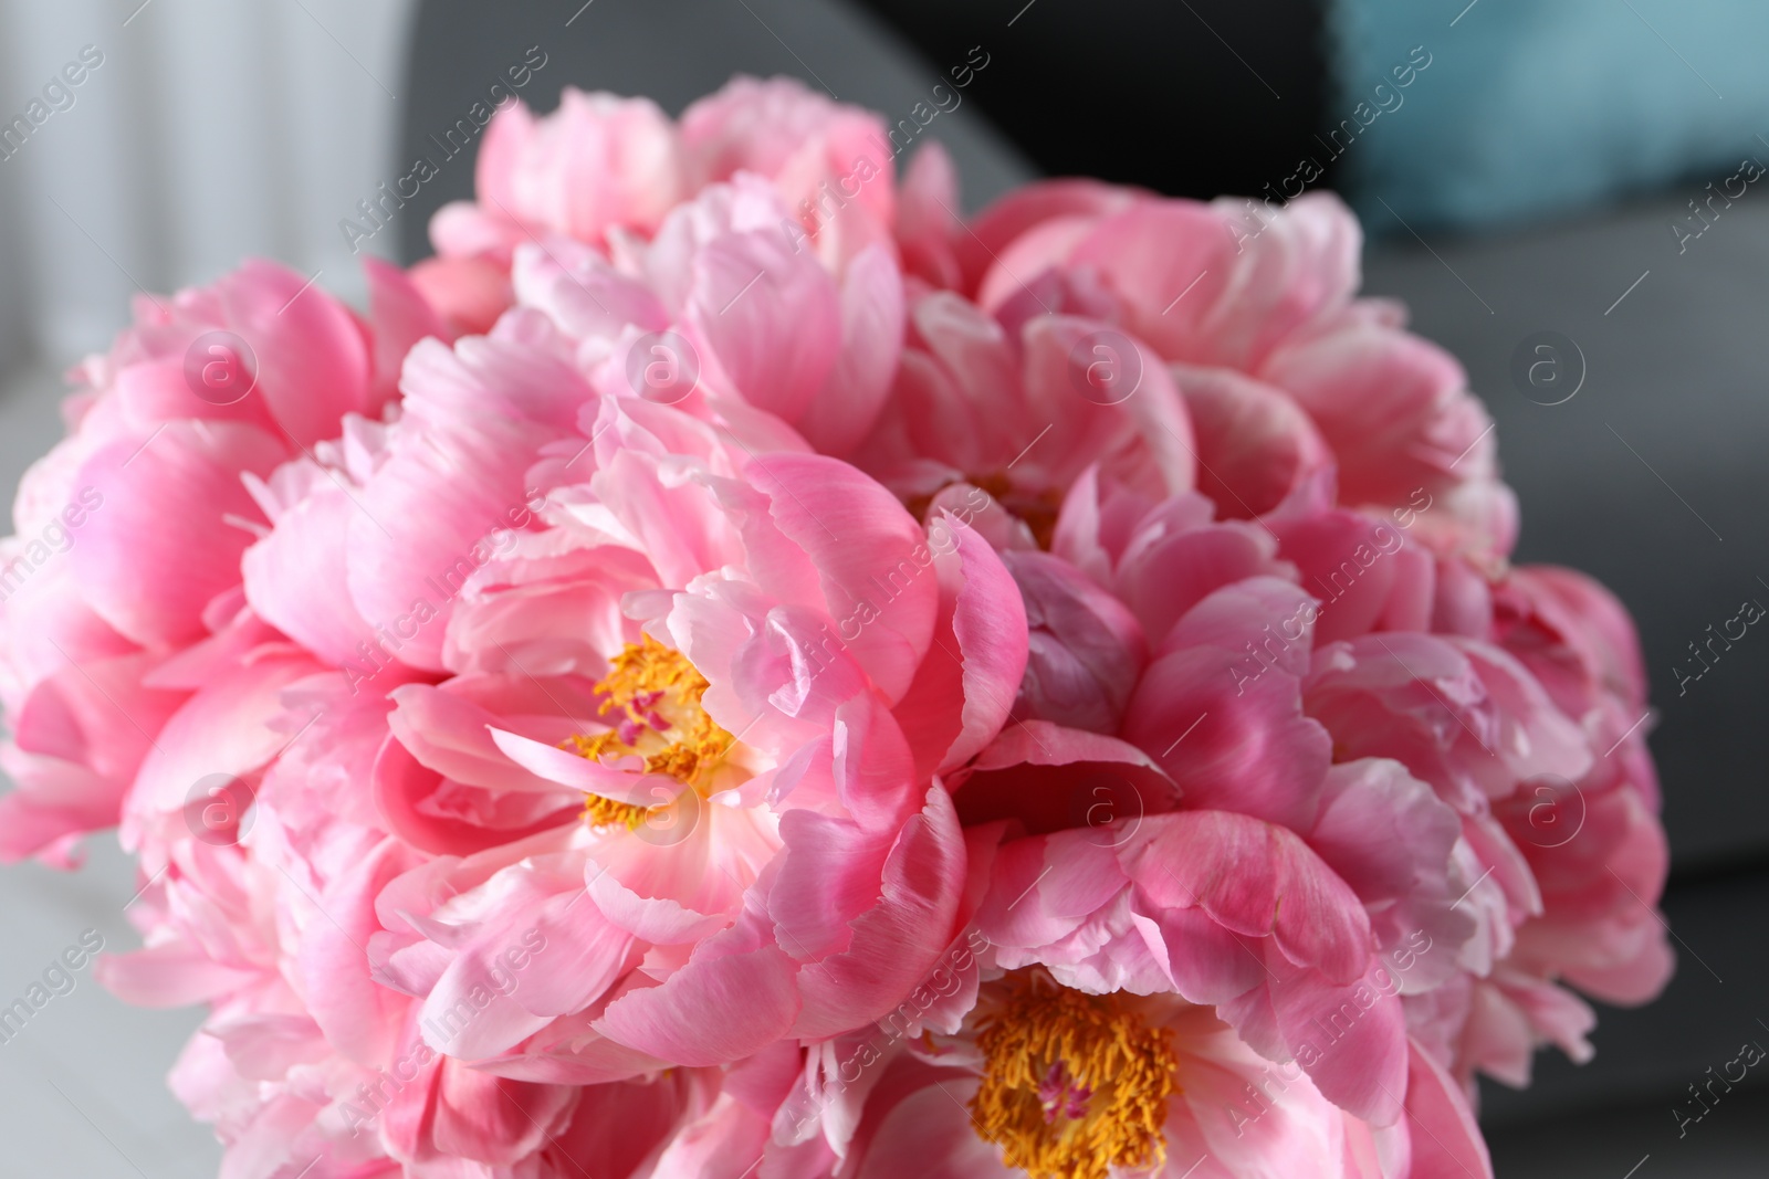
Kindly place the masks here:
<instances>
[{"instance_id":1,"label":"yellow stamen centre of the large open peony, left of middle","mask_svg":"<svg viewBox=\"0 0 1769 1179\"><path fill-rule=\"evenodd\" d=\"M612 728L568 737L561 748L596 762L637 757L644 772L667 774L704 795L736 744L701 707L706 689L706 677L685 654L646 635L626 643L596 684L603 696L601 716L610 718ZM600 794L584 795L584 818L593 827L637 827L653 810Z\"/></svg>"}]
</instances>

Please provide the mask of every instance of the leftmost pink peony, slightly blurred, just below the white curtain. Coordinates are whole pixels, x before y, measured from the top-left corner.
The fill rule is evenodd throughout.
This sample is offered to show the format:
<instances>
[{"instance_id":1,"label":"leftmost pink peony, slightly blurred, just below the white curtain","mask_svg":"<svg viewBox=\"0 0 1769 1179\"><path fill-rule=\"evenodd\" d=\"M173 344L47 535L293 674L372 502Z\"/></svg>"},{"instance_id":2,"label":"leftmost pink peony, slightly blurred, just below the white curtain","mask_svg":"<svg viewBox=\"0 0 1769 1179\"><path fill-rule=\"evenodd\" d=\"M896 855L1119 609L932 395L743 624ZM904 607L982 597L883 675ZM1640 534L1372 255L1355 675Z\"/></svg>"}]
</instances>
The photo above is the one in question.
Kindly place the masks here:
<instances>
[{"instance_id":1,"label":"leftmost pink peony, slightly blurred, just below the white curtain","mask_svg":"<svg viewBox=\"0 0 1769 1179\"><path fill-rule=\"evenodd\" d=\"M274 638L242 610L241 557L267 527L248 481L334 437L343 415L379 415L405 350L437 331L398 270L368 274L373 329L255 262L140 300L111 352L74 369L73 433L27 474L18 537L0 550L12 718L0 758L19 787L0 801L0 856L64 859L117 822L131 785L147 790L138 774L165 774L159 804L179 808L202 774L255 769L211 757L216 728L255 741L228 709L281 675L241 663Z\"/></svg>"}]
</instances>

